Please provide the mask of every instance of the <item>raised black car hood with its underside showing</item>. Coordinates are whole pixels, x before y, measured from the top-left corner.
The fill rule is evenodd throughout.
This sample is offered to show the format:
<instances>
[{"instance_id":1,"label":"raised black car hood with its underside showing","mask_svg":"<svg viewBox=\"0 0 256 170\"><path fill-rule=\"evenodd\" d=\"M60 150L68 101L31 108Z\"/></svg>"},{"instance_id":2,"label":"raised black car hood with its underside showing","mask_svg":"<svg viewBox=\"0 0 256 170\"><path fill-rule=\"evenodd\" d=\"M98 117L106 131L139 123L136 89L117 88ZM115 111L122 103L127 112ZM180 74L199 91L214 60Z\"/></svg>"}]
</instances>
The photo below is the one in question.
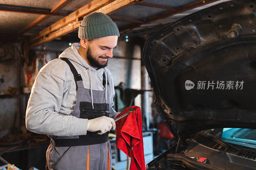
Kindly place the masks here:
<instances>
[{"instance_id":1,"label":"raised black car hood with its underside showing","mask_svg":"<svg viewBox=\"0 0 256 170\"><path fill-rule=\"evenodd\" d=\"M156 108L176 139L217 127L256 129L255 9L254 0L217 4L146 41Z\"/></svg>"}]
</instances>

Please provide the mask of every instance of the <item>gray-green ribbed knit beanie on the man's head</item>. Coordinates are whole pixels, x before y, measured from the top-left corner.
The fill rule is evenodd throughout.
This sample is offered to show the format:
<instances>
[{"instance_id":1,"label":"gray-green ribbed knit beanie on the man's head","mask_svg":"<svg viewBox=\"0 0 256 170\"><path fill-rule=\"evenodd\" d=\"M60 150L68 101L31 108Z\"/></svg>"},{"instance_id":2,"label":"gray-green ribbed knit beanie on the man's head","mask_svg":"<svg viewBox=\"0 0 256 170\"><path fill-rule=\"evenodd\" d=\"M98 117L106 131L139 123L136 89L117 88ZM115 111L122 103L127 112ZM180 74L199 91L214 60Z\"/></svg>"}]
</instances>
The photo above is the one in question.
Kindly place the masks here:
<instances>
[{"instance_id":1,"label":"gray-green ribbed knit beanie on the man's head","mask_svg":"<svg viewBox=\"0 0 256 170\"><path fill-rule=\"evenodd\" d=\"M120 36L116 23L102 12L94 12L84 17L78 28L80 39L95 39L111 35Z\"/></svg>"}]
</instances>

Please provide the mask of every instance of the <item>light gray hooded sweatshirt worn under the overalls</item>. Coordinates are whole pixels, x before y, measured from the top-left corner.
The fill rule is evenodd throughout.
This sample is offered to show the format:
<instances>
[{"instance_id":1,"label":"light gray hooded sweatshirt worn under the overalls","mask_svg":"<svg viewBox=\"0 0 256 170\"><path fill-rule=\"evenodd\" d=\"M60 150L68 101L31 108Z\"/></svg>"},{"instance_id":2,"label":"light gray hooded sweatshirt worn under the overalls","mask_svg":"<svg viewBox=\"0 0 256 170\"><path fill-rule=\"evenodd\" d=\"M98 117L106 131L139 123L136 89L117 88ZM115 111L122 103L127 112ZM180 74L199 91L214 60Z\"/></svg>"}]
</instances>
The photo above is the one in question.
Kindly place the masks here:
<instances>
[{"instance_id":1,"label":"light gray hooded sweatshirt worn under the overalls","mask_svg":"<svg viewBox=\"0 0 256 170\"><path fill-rule=\"evenodd\" d=\"M71 61L78 74L81 74L84 88L91 91L105 90L102 85L104 71L109 81L110 106L113 107L115 91L110 71L107 68L92 68L79 55L79 47L79 43L72 44L59 58L66 57ZM93 107L93 98L91 100ZM76 83L73 73L65 61L54 59L47 63L36 77L28 100L26 127L32 132L52 136L86 135L88 119L71 115L75 105ZM118 114L114 110L114 117Z\"/></svg>"}]
</instances>

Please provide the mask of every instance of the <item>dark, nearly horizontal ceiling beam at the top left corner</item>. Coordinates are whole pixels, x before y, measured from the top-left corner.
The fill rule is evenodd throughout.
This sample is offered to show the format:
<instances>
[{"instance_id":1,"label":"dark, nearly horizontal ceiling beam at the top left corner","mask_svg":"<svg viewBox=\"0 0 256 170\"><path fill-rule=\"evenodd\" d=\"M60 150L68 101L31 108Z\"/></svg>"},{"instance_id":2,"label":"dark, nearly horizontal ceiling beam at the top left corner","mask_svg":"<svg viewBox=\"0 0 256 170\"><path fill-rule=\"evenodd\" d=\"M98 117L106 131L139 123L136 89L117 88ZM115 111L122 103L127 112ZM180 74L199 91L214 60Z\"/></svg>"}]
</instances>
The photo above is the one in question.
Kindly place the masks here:
<instances>
[{"instance_id":1,"label":"dark, nearly horizontal ceiling beam at the top left corner","mask_svg":"<svg viewBox=\"0 0 256 170\"><path fill-rule=\"evenodd\" d=\"M0 11L52 16L67 16L68 12L50 12L50 9L0 4Z\"/></svg>"}]
</instances>

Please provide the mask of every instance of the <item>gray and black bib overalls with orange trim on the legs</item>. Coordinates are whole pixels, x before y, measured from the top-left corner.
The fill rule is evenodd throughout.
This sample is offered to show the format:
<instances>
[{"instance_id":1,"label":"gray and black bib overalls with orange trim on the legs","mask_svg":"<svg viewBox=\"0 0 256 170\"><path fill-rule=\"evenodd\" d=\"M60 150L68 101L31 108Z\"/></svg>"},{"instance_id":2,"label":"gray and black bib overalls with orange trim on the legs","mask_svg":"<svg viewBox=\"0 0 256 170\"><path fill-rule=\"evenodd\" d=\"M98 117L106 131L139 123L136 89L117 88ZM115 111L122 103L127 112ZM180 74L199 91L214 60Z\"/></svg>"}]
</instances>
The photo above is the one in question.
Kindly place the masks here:
<instances>
[{"instance_id":1,"label":"gray and black bib overalls with orange trim on the legs","mask_svg":"<svg viewBox=\"0 0 256 170\"><path fill-rule=\"evenodd\" d=\"M108 90L106 98L105 91L84 88L81 75L77 73L75 67L67 58L61 59L68 63L76 81L76 106L71 115L83 119L93 119L100 116L112 117L114 112L109 105ZM106 90L108 83L107 85L104 84L104 77L105 74L103 74L103 85ZM109 88L107 87L107 89ZM46 151L46 169L111 169L112 154L108 133L99 135L96 132L87 131L86 135L73 137L49 136L51 143Z\"/></svg>"}]
</instances>

